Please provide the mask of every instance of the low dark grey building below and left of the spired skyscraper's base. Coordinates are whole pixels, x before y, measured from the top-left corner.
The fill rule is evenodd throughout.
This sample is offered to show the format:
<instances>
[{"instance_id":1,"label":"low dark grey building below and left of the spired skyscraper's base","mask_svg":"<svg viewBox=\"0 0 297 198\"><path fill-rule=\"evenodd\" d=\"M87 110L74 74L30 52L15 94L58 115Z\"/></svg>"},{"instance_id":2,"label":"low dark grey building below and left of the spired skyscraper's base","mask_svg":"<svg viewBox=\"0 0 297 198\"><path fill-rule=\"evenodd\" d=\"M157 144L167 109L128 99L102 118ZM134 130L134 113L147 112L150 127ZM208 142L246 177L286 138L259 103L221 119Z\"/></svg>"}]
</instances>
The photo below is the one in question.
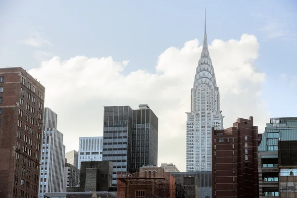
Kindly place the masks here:
<instances>
[{"instance_id":1,"label":"low dark grey building below and left of the spired skyscraper's base","mask_svg":"<svg viewBox=\"0 0 297 198\"><path fill-rule=\"evenodd\" d=\"M199 180L197 177L175 177L175 183L183 186L184 198L199 198Z\"/></svg>"}]
</instances>

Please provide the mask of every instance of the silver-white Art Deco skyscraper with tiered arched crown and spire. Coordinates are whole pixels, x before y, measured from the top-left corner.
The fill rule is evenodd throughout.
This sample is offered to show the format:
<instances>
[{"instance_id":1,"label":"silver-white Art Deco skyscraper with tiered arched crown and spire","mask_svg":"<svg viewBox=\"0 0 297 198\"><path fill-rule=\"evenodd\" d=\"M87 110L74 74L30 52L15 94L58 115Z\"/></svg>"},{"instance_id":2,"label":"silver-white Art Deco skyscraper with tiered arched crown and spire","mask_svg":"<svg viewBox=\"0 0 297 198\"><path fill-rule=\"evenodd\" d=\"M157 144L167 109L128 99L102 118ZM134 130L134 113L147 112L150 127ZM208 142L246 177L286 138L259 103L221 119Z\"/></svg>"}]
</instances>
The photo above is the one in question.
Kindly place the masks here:
<instances>
[{"instance_id":1,"label":"silver-white Art Deco skyscraper with tiered arched crown and spire","mask_svg":"<svg viewBox=\"0 0 297 198\"><path fill-rule=\"evenodd\" d=\"M211 128L223 129L221 112L220 91L207 46L205 12L203 47L191 89L191 112L186 112L187 171L211 171Z\"/></svg>"}]
</instances>

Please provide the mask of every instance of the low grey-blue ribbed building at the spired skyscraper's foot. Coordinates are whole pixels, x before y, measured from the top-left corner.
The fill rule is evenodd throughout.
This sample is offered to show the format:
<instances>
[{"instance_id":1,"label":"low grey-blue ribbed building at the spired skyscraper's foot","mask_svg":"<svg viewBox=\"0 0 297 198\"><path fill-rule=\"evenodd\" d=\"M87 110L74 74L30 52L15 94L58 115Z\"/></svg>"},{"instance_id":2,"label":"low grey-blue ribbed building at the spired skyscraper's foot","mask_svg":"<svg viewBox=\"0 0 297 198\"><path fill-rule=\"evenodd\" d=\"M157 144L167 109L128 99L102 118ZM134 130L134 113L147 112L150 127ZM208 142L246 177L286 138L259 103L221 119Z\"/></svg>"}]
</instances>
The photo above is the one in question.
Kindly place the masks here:
<instances>
[{"instance_id":1,"label":"low grey-blue ribbed building at the spired skyscraper's foot","mask_svg":"<svg viewBox=\"0 0 297 198\"><path fill-rule=\"evenodd\" d=\"M199 181L199 198L212 198L211 197L211 172L198 171L198 172L171 172L175 178L177 177L197 177Z\"/></svg>"}]
</instances>

